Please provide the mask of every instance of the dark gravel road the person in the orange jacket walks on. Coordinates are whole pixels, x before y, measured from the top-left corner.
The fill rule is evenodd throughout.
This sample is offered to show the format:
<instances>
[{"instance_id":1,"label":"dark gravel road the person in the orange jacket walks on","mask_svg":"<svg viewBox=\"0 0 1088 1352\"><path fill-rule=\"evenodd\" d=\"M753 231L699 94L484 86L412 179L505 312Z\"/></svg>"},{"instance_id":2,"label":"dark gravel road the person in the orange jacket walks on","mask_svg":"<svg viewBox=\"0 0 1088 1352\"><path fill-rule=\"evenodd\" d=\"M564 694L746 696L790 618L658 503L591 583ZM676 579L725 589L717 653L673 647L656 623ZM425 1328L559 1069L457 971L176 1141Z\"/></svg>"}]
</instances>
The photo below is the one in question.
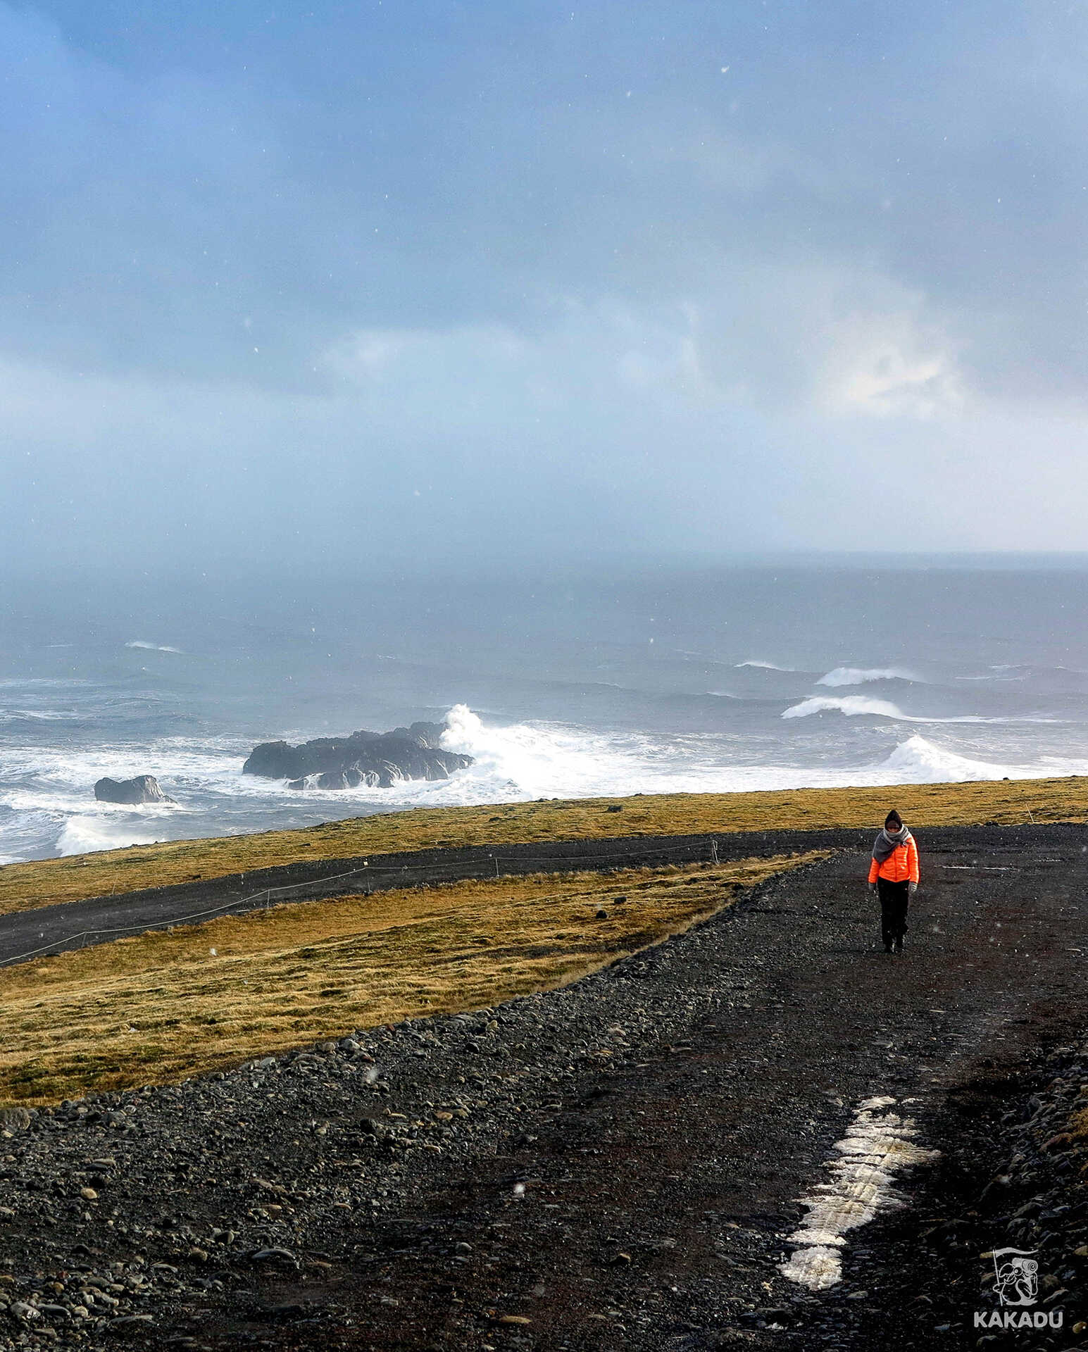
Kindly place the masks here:
<instances>
[{"instance_id":1,"label":"dark gravel road the person in the orange jacket walks on","mask_svg":"<svg viewBox=\"0 0 1088 1352\"><path fill-rule=\"evenodd\" d=\"M983 1063L1088 1028L1084 829L918 834L903 957L845 853L564 991L35 1122L0 1142L11 1295L112 1274L122 1305L53 1317L80 1348L974 1347L968 1307L884 1318L901 1220L847 1237L841 1287L780 1272L861 1102L954 1157Z\"/></svg>"}]
</instances>

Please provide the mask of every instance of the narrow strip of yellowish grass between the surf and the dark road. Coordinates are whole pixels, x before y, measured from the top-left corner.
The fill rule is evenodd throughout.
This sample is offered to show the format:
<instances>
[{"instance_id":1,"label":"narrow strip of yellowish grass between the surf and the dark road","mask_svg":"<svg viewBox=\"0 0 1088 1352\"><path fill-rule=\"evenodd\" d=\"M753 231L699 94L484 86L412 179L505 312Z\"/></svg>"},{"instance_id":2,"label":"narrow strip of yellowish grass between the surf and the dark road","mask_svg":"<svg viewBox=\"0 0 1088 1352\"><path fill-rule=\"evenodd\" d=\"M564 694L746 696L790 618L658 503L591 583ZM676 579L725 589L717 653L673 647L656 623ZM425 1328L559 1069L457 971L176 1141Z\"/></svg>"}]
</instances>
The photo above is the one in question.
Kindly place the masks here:
<instances>
[{"instance_id":1,"label":"narrow strip of yellowish grass between the surf and the dark road","mask_svg":"<svg viewBox=\"0 0 1088 1352\"><path fill-rule=\"evenodd\" d=\"M610 806L622 811L610 813ZM1084 821L1088 779L801 788L762 794L661 794L608 800L549 799L497 807L415 808L327 822L305 830L134 845L69 859L8 864L0 868L0 915L84 896L222 877L274 864L434 846L812 830L822 826L874 830L889 806L899 807L915 827L991 821Z\"/></svg>"}]
</instances>

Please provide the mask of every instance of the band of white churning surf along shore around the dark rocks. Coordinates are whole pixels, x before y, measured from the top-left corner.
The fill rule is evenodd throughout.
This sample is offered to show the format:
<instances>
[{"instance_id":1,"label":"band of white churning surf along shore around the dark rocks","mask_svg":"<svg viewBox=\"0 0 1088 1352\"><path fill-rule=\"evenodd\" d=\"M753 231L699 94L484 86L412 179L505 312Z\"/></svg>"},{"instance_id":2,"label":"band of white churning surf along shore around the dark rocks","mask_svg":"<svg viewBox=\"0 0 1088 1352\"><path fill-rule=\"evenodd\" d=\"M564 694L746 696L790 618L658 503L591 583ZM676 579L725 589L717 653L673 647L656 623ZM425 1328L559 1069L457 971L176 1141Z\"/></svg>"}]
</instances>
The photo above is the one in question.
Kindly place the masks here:
<instances>
[{"instance_id":1,"label":"band of white churning surf along shore around the dark rocks","mask_svg":"<svg viewBox=\"0 0 1088 1352\"><path fill-rule=\"evenodd\" d=\"M857 696L856 696L857 698ZM893 723L885 726L895 726ZM312 730L289 735L305 740ZM857 745L856 734L853 744ZM864 738L879 737L874 727ZM887 734L885 734L887 735ZM987 735L987 734L980 734ZM735 734L664 735L597 731L572 723L497 726L458 704L445 745L474 757L447 780L412 780L388 790L289 790L284 780L242 775L251 742L242 738L159 738L73 749L5 741L0 752L0 852L8 859L59 850L109 849L137 841L299 826L357 813L416 806L523 802L535 798L611 798L637 792L737 792L768 788L881 786L1088 773L1088 760L1039 756L1000 763L961 754L914 735L869 761L799 764L762 760ZM887 745L887 744L885 744ZM983 741L979 745L987 745ZM999 744L997 744L999 745ZM1020 748L1033 742L1020 741ZM95 780L154 773L177 807L96 803Z\"/></svg>"}]
</instances>

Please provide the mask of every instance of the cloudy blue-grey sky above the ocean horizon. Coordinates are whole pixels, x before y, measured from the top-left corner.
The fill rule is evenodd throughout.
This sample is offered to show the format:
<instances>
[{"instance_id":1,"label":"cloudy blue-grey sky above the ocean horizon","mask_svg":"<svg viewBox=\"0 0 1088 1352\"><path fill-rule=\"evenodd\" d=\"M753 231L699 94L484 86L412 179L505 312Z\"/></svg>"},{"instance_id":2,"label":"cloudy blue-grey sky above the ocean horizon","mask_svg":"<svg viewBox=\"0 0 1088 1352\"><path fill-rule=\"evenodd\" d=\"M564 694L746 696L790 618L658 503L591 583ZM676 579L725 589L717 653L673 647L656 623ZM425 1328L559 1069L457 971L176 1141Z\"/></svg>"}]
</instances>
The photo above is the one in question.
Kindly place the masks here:
<instances>
[{"instance_id":1,"label":"cloudy blue-grey sky above the ocean horizon","mask_svg":"<svg viewBox=\"0 0 1088 1352\"><path fill-rule=\"evenodd\" d=\"M1088 549L1083 0L0 0L0 554Z\"/></svg>"}]
</instances>

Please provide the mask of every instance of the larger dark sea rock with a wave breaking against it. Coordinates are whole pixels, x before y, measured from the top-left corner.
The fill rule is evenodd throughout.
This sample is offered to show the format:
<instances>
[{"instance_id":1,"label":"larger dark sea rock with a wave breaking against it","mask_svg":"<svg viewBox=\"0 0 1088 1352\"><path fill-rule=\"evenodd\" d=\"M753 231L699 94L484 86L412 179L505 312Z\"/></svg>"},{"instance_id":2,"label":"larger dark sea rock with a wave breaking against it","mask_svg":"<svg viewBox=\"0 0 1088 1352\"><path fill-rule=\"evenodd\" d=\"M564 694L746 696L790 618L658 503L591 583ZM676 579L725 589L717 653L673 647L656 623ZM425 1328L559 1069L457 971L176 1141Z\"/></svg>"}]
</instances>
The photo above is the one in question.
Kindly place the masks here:
<instances>
[{"instance_id":1,"label":"larger dark sea rock with a wave breaking against it","mask_svg":"<svg viewBox=\"0 0 1088 1352\"><path fill-rule=\"evenodd\" d=\"M243 775L291 780L291 788L391 788L405 779L449 779L472 765L472 756L442 750L442 723L412 723L391 733L318 737L301 746L261 742L242 767Z\"/></svg>"}]
</instances>

